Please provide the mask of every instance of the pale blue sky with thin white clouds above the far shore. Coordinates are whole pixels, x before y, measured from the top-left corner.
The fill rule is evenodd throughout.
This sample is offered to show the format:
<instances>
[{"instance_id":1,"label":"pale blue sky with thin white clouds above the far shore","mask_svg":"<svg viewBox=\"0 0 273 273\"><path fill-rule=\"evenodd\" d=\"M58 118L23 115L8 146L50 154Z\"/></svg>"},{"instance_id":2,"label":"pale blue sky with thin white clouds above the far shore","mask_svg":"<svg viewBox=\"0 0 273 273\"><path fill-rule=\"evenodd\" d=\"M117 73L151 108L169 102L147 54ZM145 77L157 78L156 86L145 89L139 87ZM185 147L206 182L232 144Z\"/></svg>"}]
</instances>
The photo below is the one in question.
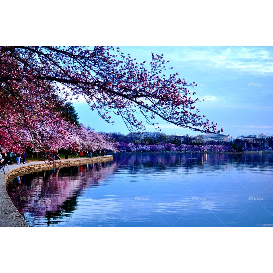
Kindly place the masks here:
<instances>
[{"instance_id":1,"label":"pale blue sky with thin white clouds above the far shore","mask_svg":"<svg viewBox=\"0 0 273 273\"><path fill-rule=\"evenodd\" d=\"M164 53L172 72L186 82L195 81L195 98L202 115L218 123L224 134L233 137L264 133L273 135L273 47L257 46L119 46L137 61L147 60L151 52ZM80 122L96 131L129 133L123 121L112 115L114 125L107 124L83 100L74 102ZM198 135L198 132L160 123L163 133ZM155 131L148 127L148 131Z\"/></svg>"}]
</instances>

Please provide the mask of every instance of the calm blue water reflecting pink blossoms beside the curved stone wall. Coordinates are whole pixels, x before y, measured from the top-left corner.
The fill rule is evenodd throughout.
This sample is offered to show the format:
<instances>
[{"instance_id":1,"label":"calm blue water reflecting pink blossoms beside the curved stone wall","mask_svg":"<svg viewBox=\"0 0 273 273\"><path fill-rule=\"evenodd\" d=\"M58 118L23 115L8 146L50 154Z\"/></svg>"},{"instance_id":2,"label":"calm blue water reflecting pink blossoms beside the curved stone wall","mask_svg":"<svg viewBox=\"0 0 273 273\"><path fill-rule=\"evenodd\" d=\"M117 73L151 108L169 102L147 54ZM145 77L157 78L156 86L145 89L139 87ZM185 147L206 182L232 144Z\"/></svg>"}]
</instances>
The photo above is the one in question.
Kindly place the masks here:
<instances>
[{"instance_id":1,"label":"calm blue water reflecting pink blossoms beside the curved stone wall","mask_svg":"<svg viewBox=\"0 0 273 273\"><path fill-rule=\"evenodd\" d=\"M270 227L273 154L114 154L7 192L34 227Z\"/></svg>"}]
</instances>

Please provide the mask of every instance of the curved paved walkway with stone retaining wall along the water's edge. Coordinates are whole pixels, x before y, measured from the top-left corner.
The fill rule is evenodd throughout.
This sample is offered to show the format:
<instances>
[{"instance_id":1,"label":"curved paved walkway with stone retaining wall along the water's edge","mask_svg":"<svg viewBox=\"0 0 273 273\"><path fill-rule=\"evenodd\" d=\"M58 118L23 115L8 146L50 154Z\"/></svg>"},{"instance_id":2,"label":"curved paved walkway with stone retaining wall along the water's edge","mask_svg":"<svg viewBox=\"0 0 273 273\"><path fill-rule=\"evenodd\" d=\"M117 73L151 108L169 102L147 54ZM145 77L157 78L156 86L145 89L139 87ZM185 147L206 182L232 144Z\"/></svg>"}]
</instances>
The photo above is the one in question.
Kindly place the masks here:
<instances>
[{"instance_id":1,"label":"curved paved walkway with stone retaining wall along the water's edge","mask_svg":"<svg viewBox=\"0 0 273 273\"><path fill-rule=\"evenodd\" d=\"M28 224L24 220L23 216L18 212L7 194L6 181L9 182L13 177L23 175L26 172L35 172L38 169L66 167L111 160L113 160L113 156L100 156L93 158L73 158L54 161L57 166L50 162L45 163L44 161L38 161L21 164L20 166L17 164L9 165L9 171L7 167L5 167L6 175L4 175L2 170L0 171L0 227L28 227Z\"/></svg>"}]
</instances>

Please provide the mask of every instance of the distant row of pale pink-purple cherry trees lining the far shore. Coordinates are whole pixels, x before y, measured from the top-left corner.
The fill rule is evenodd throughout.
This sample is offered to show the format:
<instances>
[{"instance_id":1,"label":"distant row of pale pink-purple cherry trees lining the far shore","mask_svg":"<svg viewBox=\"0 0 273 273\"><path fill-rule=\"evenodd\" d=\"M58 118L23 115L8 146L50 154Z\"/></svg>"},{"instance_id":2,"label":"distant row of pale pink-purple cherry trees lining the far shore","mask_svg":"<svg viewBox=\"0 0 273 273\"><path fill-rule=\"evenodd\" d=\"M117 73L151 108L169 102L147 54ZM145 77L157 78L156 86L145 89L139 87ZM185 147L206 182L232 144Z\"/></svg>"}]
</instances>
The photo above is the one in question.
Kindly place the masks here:
<instances>
[{"instance_id":1,"label":"distant row of pale pink-purple cherry trees lining the far shore","mask_svg":"<svg viewBox=\"0 0 273 273\"><path fill-rule=\"evenodd\" d=\"M236 152L231 146L225 145L186 145L176 146L172 143L157 143L154 145L141 145L135 143L120 143L120 152Z\"/></svg>"}]
</instances>

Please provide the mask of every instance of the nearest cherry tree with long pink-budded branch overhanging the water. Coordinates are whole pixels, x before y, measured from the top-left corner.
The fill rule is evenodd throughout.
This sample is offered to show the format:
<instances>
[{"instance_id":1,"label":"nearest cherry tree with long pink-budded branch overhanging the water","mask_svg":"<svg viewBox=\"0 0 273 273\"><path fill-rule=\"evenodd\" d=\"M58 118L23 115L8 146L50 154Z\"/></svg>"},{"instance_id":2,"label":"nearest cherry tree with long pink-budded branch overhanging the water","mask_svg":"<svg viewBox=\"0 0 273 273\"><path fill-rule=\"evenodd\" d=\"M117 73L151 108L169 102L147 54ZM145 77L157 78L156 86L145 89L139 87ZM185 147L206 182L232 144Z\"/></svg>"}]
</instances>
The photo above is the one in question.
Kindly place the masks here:
<instances>
[{"instance_id":1,"label":"nearest cherry tree with long pink-budded branch overhanging the water","mask_svg":"<svg viewBox=\"0 0 273 273\"><path fill-rule=\"evenodd\" d=\"M156 117L200 132L222 131L195 107L198 99L188 88L196 84L165 75L167 69L163 54L152 53L146 66L110 46L1 46L0 145L69 146L74 127L59 113L60 104L80 95L106 122L114 122L112 112L131 131L146 128L137 113L158 130Z\"/></svg>"}]
</instances>

